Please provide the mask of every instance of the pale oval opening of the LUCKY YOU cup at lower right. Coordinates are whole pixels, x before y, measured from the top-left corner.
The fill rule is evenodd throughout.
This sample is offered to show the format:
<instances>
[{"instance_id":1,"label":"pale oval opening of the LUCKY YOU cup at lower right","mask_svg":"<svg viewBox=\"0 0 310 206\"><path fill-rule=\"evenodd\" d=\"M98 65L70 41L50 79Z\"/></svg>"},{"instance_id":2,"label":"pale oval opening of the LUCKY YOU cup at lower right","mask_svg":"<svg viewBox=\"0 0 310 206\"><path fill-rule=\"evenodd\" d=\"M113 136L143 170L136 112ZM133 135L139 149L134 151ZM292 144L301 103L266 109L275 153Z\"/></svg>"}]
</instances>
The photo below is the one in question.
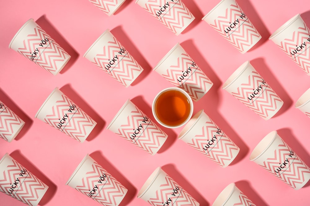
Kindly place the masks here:
<instances>
[{"instance_id":1,"label":"pale oval opening of the LUCKY YOU cup at lower right","mask_svg":"<svg viewBox=\"0 0 310 206\"><path fill-rule=\"evenodd\" d=\"M258 159L261 155L263 155L263 153L270 147L276 137L277 131L272 131L267 134L252 151L250 155L250 161L254 161Z\"/></svg>"}]
</instances>

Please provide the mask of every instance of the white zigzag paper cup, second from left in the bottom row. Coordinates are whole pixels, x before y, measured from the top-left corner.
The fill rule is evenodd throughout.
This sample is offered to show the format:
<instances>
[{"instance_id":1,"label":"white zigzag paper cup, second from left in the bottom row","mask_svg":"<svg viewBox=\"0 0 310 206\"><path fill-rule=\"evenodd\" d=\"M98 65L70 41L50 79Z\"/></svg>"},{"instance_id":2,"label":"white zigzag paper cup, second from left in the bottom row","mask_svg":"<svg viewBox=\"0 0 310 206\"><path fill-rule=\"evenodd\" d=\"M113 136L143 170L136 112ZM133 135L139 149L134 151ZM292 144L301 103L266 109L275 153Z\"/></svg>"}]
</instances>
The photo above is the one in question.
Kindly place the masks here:
<instances>
[{"instance_id":1,"label":"white zigzag paper cup, second from left in the bottom row","mask_svg":"<svg viewBox=\"0 0 310 206\"><path fill-rule=\"evenodd\" d=\"M88 154L75 169L66 185L104 206L119 205L128 191Z\"/></svg>"}]
</instances>

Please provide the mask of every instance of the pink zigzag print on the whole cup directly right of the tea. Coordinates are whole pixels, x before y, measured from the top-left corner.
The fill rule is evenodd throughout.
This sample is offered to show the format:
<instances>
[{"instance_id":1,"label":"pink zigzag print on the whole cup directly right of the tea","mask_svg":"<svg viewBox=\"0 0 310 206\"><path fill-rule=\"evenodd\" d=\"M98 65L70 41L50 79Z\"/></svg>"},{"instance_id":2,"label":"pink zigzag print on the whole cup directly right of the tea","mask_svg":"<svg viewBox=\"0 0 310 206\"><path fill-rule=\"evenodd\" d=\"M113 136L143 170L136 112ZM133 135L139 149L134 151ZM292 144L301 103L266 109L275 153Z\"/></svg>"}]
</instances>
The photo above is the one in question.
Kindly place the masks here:
<instances>
[{"instance_id":1,"label":"pink zigzag print on the whole cup directly right of the tea","mask_svg":"<svg viewBox=\"0 0 310 206\"><path fill-rule=\"evenodd\" d=\"M282 100L267 83L264 85L262 82L263 78L259 73L253 71L248 77L248 82L241 84L237 88L237 92L231 94L256 114L266 118L268 112L277 110L277 102L282 102ZM250 95L253 94L253 89L256 90L259 86L262 87L261 91L254 98L248 99L251 98Z\"/></svg>"}]
</instances>

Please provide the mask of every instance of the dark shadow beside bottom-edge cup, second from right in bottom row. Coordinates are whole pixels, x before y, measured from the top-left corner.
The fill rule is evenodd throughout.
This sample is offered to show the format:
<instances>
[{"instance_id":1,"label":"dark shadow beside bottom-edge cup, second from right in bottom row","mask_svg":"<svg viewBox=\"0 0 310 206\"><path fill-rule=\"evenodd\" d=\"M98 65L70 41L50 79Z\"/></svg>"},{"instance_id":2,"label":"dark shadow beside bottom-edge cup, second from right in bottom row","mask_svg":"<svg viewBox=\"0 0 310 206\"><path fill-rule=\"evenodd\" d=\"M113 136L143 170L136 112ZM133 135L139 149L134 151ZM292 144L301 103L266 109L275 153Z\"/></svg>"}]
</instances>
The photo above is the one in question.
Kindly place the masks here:
<instances>
[{"instance_id":1,"label":"dark shadow beside bottom-edge cup, second from right in bottom row","mask_svg":"<svg viewBox=\"0 0 310 206\"><path fill-rule=\"evenodd\" d=\"M210 204L203 198L201 194L189 183L186 178L180 174L174 164L166 164L162 166L164 170L175 182L177 182L185 191L188 192L200 205L209 206Z\"/></svg>"}]
</instances>

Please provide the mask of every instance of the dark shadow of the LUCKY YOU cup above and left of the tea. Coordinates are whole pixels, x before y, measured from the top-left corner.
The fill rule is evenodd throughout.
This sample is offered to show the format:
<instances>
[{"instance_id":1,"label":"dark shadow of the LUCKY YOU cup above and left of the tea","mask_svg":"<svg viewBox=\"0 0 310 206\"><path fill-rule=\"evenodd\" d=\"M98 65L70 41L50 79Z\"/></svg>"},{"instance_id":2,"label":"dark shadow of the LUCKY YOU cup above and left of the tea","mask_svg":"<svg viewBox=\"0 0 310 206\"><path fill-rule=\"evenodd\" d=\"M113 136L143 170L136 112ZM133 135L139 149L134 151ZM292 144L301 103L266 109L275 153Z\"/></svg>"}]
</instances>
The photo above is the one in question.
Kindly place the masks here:
<instances>
[{"instance_id":1,"label":"dark shadow of the LUCKY YOU cup above and left of the tea","mask_svg":"<svg viewBox=\"0 0 310 206\"><path fill-rule=\"evenodd\" d=\"M142 81L148 74L152 71L151 66L148 64L146 59L144 59L142 53L138 50L135 44L130 40L126 35L126 32L123 30L122 26L117 26L111 30L113 36L121 42L121 44L128 49L129 53L133 58L138 62L138 64L143 68L143 72L132 82L132 86L137 85Z\"/></svg>"}]
</instances>

